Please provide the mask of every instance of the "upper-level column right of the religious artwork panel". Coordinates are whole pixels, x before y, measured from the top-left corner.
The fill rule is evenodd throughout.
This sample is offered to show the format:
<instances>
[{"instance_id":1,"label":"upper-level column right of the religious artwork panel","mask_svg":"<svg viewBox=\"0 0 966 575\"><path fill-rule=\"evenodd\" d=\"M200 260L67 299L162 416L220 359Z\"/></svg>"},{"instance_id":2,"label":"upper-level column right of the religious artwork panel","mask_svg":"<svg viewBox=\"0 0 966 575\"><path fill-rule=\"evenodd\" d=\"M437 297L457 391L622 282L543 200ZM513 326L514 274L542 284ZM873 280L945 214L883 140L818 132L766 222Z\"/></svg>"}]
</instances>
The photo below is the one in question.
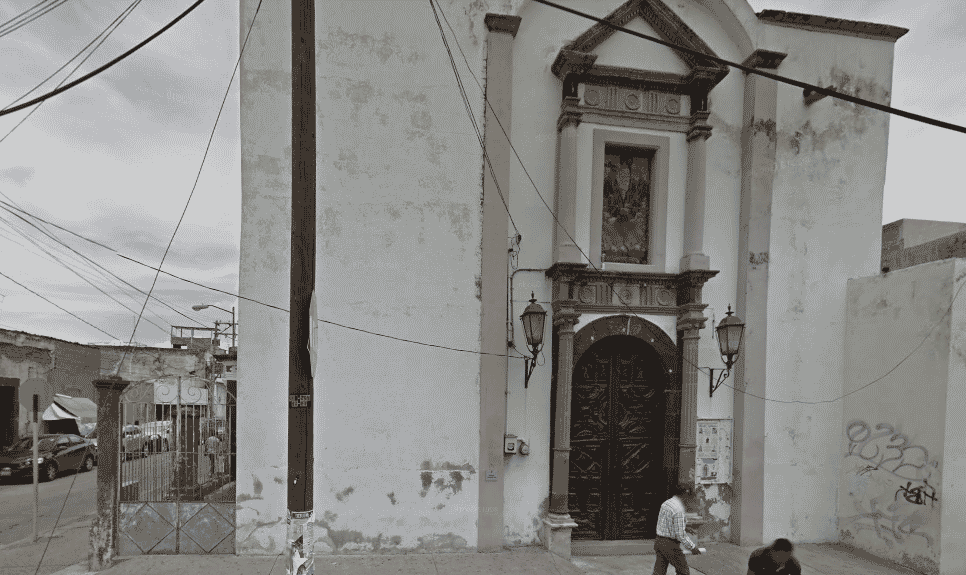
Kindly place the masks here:
<instances>
[{"instance_id":1,"label":"upper-level column right of the religious artwork panel","mask_svg":"<svg viewBox=\"0 0 966 575\"><path fill-rule=\"evenodd\" d=\"M708 179L708 98L691 98L691 127L688 129L688 179L684 204L684 256L681 270L706 270L710 260L704 254L704 204Z\"/></svg>"}]
</instances>

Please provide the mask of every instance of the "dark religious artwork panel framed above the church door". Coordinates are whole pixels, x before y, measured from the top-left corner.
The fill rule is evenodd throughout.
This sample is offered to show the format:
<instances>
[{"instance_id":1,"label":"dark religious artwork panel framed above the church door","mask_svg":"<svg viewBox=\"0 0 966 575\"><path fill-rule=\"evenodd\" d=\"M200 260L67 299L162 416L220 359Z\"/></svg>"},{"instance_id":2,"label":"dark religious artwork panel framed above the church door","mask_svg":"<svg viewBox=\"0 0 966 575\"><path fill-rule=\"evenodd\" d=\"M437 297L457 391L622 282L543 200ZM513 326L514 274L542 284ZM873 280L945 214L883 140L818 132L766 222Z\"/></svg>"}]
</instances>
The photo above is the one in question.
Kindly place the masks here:
<instances>
[{"instance_id":1,"label":"dark religious artwork panel framed above the church door","mask_svg":"<svg viewBox=\"0 0 966 575\"><path fill-rule=\"evenodd\" d=\"M648 264L654 151L604 147L601 261Z\"/></svg>"}]
</instances>

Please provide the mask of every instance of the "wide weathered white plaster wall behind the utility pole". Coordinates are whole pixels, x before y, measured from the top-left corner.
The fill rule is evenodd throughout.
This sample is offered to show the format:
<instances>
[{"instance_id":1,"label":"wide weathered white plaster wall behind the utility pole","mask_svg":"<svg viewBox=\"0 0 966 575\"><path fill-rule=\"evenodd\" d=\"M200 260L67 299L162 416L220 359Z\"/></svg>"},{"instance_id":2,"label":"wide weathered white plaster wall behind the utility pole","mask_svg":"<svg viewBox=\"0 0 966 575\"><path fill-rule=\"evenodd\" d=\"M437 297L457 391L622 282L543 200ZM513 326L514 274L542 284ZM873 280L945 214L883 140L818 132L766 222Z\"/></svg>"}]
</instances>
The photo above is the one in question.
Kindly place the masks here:
<instances>
[{"instance_id":1,"label":"wide weathered white plaster wall behind the utility pole","mask_svg":"<svg viewBox=\"0 0 966 575\"><path fill-rule=\"evenodd\" d=\"M243 2L243 29L256 4ZM483 8L443 6L478 78ZM242 61L241 112L241 289L283 308L288 10L262 7ZM446 51L433 40L439 30L432 11L418 2L322 3L316 23L319 317L478 349L482 153ZM482 123L482 94L468 75L464 82ZM261 385L239 386L239 442L263 446L239 454L238 549L279 553L288 318L250 303L240 316L251 322L245 341L257 343L241 343L239 369ZM479 366L472 353L319 325L316 553L475 547Z\"/></svg>"}]
</instances>

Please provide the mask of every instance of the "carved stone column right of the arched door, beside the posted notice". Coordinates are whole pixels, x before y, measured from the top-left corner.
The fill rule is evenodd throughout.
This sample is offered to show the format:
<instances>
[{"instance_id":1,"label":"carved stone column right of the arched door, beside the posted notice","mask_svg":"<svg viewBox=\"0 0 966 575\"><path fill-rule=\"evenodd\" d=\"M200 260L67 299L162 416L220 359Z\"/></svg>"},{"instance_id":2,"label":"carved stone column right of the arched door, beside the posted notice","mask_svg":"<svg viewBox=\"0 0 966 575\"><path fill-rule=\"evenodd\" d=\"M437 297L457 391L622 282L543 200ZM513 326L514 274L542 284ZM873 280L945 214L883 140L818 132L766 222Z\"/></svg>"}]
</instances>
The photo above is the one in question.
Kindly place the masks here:
<instances>
[{"instance_id":1,"label":"carved stone column right of the arched door, beside the posted notice","mask_svg":"<svg viewBox=\"0 0 966 575\"><path fill-rule=\"evenodd\" d=\"M678 276L678 333L681 339L681 455L678 481L695 482L694 452L697 448L698 418L698 342L707 318L701 303L701 289L717 271L690 270Z\"/></svg>"}]
</instances>

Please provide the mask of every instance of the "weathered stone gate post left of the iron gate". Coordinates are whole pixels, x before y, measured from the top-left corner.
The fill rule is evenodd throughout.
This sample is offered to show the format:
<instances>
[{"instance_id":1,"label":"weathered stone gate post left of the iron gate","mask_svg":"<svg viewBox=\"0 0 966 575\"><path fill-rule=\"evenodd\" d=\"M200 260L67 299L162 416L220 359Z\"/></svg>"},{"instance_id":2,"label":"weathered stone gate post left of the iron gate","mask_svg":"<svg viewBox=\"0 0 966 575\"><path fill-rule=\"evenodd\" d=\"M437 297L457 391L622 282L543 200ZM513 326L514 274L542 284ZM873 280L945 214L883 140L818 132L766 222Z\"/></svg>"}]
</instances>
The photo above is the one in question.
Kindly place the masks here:
<instances>
[{"instance_id":1,"label":"weathered stone gate post left of the iron gate","mask_svg":"<svg viewBox=\"0 0 966 575\"><path fill-rule=\"evenodd\" d=\"M97 517L91 523L88 567L108 569L117 551L118 480L121 472L120 398L131 382L120 377L96 380L97 388Z\"/></svg>"}]
</instances>

